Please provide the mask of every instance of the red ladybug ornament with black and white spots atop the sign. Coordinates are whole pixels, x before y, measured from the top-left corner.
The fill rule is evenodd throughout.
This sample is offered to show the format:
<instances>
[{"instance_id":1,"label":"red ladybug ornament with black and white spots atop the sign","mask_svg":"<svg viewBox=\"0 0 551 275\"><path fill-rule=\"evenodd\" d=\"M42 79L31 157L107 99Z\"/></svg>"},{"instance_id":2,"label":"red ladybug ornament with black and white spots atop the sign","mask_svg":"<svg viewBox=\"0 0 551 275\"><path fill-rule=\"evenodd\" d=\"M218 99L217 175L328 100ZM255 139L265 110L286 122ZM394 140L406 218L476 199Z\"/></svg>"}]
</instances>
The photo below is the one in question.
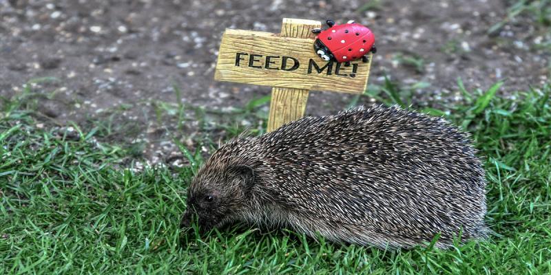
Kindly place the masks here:
<instances>
[{"instance_id":1,"label":"red ladybug ornament with black and white spots atop the sign","mask_svg":"<svg viewBox=\"0 0 551 275\"><path fill-rule=\"evenodd\" d=\"M335 25L331 20L326 21L329 29L315 28L312 32L315 36L314 49L324 61L337 61L349 63L362 58L367 62L369 52L377 52L375 48L375 35L366 26L348 21L346 24Z\"/></svg>"}]
</instances>

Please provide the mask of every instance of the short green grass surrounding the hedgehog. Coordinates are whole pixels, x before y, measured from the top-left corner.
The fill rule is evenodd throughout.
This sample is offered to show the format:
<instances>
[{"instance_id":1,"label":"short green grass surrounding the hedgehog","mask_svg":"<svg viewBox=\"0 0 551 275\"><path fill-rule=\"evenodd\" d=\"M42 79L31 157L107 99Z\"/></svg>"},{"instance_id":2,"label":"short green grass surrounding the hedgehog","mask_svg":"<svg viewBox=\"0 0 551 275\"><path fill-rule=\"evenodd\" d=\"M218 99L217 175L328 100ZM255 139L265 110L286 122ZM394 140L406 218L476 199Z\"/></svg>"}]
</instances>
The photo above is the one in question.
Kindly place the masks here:
<instances>
[{"instance_id":1,"label":"short green grass surrounding the hedgehog","mask_svg":"<svg viewBox=\"0 0 551 275\"><path fill-rule=\"evenodd\" d=\"M508 100L500 86L424 110L468 129L487 171L497 234L450 250L385 251L247 228L180 238L197 153L178 144L192 166L136 170L123 147L96 142L98 127L39 129L21 98L3 98L0 274L550 274L551 89ZM395 83L379 88L387 104L408 104ZM255 116L259 100L236 112Z\"/></svg>"}]
</instances>

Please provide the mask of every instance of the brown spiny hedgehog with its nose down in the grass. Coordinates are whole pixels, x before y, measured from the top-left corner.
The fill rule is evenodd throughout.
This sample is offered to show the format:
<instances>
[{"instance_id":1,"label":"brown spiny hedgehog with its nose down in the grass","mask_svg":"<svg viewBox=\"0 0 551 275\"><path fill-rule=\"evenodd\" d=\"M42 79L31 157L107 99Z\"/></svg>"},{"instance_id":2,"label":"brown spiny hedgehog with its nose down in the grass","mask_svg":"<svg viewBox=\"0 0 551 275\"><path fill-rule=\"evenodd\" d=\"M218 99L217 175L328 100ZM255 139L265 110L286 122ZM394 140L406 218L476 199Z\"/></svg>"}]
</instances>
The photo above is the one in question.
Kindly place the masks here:
<instances>
[{"instance_id":1,"label":"brown spiny hedgehog with its nose down in the grass","mask_svg":"<svg viewBox=\"0 0 551 275\"><path fill-rule=\"evenodd\" d=\"M488 236L486 180L470 135L397 106L305 117L240 136L187 189L180 227L234 222L378 248Z\"/></svg>"}]
</instances>

